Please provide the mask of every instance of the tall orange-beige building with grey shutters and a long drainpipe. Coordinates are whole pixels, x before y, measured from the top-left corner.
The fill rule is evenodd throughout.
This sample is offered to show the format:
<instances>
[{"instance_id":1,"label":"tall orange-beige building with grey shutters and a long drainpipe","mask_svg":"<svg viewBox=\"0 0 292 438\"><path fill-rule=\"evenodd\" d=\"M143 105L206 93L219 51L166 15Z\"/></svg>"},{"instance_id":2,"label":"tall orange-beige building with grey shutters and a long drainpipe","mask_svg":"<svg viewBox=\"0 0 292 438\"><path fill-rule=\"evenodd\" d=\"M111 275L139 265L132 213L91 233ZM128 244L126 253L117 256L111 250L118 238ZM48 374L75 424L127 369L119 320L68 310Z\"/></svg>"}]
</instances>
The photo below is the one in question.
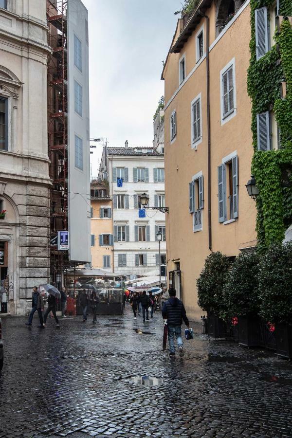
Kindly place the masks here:
<instances>
[{"instance_id":1,"label":"tall orange-beige building with grey shutters and a long drainpipe","mask_svg":"<svg viewBox=\"0 0 292 438\"><path fill-rule=\"evenodd\" d=\"M178 20L162 74L169 286L197 319L205 258L256 244L256 206L245 187L253 156L250 38L249 0L201 0Z\"/></svg>"}]
</instances>

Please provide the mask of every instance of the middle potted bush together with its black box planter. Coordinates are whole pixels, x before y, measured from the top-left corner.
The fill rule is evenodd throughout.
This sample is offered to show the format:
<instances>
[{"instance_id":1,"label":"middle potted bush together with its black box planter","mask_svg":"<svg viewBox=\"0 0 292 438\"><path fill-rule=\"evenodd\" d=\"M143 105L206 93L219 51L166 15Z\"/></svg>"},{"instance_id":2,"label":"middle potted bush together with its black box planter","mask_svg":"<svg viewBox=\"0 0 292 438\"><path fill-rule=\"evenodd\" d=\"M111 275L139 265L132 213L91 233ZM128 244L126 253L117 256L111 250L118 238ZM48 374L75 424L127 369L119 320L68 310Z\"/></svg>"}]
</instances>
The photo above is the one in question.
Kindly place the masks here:
<instances>
[{"instance_id":1,"label":"middle potted bush together with its black box planter","mask_svg":"<svg viewBox=\"0 0 292 438\"><path fill-rule=\"evenodd\" d=\"M226 311L221 316L231 326L232 338L246 347L264 345L259 318L259 260L255 251L239 254L227 274L223 291Z\"/></svg>"}]
</instances>

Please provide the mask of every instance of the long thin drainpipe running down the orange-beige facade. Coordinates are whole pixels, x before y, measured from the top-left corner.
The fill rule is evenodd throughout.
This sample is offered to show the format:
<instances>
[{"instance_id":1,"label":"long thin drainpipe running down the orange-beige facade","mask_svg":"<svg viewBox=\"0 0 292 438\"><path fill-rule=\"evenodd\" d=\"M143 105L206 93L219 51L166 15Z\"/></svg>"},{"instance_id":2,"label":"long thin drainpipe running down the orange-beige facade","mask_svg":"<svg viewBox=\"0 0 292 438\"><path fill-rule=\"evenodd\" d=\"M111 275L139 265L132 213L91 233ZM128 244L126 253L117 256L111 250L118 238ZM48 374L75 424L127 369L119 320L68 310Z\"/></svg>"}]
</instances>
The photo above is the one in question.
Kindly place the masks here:
<instances>
[{"instance_id":1,"label":"long thin drainpipe running down the orange-beige facade","mask_svg":"<svg viewBox=\"0 0 292 438\"><path fill-rule=\"evenodd\" d=\"M206 75L207 75L207 130L208 130L208 237L209 250L212 251L211 224L211 121L210 121L210 67L209 67L209 17L199 9L201 17L206 18Z\"/></svg>"}]
</instances>

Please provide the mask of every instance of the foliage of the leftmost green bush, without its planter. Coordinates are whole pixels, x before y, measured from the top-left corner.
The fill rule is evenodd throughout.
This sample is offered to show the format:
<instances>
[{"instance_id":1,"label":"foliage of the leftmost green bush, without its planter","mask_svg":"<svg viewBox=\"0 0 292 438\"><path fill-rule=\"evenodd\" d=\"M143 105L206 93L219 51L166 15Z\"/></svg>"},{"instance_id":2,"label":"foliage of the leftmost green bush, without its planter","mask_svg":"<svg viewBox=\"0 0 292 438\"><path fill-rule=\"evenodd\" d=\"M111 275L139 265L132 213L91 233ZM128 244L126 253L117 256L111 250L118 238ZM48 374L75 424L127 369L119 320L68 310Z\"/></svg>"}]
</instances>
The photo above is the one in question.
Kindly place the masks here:
<instances>
[{"instance_id":1,"label":"foliage of the leftmost green bush, without its planter","mask_svg":"<svg viewBox=\"0 0 292 438\"><path fill-rule=\"evenodd\" d=\"M197 280L198 304L202 310L215 313L226 311L223 301L223 288L230 269L230 260L217 251L210 254Z\"/></svg>"}]
</instances>

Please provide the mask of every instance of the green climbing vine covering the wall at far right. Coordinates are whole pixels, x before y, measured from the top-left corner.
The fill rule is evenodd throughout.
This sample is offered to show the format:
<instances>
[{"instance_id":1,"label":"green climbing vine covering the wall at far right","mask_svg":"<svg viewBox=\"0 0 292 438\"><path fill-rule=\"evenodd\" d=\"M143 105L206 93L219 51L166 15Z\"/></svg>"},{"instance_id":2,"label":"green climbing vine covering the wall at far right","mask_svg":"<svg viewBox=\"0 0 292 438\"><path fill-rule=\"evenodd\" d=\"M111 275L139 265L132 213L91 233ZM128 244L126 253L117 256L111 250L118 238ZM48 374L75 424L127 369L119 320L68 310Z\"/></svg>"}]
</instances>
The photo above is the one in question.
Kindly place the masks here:
<instances>
[{"instance_id":1,"label":"green climbing vine covering the wall at far right","mask_svg":"<svg viewBox=\"0 0 292 438\"><path fill-rule=\"evenodd\" d=\"M255 10L268 8L274 0L251 0L250 67L248 93L252 99L252 133L254 157L252 173L256 177L259 195L256 200L256 231L259 248L281 242L285 229L292 223L292 187L281 186L281 170L292 164L292 27L283 21L280 33L275 33L275 45L256 60ZM291 0L280 1L280 13L292 16ZM280 62L278 60L280 59ZM280 97L280 81L285 79L287 96ZM257 150L256 114L273 110L280 131L281 148ZM292 178L290 177L292 182Z\"/></svg>"}]
</instances>

